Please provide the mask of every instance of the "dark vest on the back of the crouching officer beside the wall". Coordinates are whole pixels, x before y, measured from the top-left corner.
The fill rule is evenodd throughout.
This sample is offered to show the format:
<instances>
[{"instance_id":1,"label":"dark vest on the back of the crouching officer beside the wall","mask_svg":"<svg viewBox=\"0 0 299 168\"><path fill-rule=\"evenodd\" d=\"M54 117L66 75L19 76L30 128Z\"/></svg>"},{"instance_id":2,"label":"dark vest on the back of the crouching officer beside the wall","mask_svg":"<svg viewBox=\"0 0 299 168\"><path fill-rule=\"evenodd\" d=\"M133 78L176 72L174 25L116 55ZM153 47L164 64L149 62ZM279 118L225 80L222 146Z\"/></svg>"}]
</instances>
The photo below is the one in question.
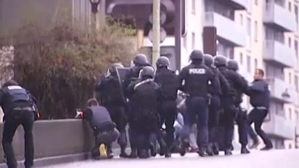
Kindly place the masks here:
<instances>
[{"instance_id":1,"label":"dark vest on the back of the crouching officer beside the wall","mask_svg":"<svg viewBox=\"0 0 299 168\"><path fill-rule=\"evenodd\" d=\"M91 106L91 120L89 124L93 129L100 129L105 127L107 124L112 124L112 120L109 111L103 106Z\"/></svg>"}]
</instances>

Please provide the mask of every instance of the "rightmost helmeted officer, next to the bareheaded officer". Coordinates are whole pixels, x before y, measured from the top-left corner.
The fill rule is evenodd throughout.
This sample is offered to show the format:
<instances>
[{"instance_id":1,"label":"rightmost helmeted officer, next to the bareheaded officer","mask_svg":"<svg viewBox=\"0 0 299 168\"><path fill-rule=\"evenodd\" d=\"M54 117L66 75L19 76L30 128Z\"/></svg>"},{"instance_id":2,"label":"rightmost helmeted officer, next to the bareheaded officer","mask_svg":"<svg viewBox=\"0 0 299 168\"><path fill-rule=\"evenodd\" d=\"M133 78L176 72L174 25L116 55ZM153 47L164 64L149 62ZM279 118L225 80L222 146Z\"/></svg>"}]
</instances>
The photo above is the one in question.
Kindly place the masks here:
<instances>
[{"instance_id":1,"label":"rightmost helmeted officer, next to the bareheaded officer","mask_svg":"<svg viewBox=\"0 0 299 168\"><path fill-rule=\"evenodd\" d=\"M221 120L223 120L222 124L224 127L224 153L225 155L232 155L234 123L238 112L238 109L235 107L235 100L237 100L238 89L245 91L247 85L242 76L226 68L226 57L217 55L214 64L230 84L228 94L221 97L221 105L224 109Z\"/></svg>"}]
</instances>

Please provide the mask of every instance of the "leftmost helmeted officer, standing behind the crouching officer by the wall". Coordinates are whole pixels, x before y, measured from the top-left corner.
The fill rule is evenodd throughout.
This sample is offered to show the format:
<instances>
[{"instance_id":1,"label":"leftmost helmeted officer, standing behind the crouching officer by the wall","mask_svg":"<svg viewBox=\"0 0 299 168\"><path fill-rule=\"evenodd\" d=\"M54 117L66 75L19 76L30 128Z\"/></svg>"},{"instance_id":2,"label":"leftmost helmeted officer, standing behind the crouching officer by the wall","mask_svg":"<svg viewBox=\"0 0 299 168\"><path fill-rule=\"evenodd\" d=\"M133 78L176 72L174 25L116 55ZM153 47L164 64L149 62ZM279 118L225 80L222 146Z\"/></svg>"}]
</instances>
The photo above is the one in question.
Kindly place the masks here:
<instances>
[{"instance_id":1,"label":"leftmost helmeted officer, standing behind the crouching officer by the wall","mask_svg":"<svg viewBox=\"0 0 299 168\"><path fill-rule=\"evenodd\" d=\"M120 157L128 158L125 149L127 147L127 133L125 127L127 118L125 115L126 100L118 81L116 68L123 68L123 64L114 63L109 68L110 75L104 77L96 86L98 92L98 100L102 106L109 111L112 121L116 123L116 128L120 131L118 144L120 144ZM109 149L111 150L111 149Z\"/></svg>"}]
</instances>

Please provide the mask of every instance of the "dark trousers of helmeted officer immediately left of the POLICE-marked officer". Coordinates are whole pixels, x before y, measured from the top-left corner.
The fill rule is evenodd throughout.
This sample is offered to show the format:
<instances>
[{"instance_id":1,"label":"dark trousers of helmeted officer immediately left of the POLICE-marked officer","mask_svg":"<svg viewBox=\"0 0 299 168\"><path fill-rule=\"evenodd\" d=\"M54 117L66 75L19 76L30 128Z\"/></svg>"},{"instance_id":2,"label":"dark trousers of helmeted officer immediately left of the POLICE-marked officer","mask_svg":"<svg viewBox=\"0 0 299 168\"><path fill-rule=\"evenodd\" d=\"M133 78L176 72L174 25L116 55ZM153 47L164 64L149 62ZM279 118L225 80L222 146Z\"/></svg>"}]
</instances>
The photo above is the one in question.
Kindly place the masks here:
<instances>
[{"instance_id":1,"label":"dark trousers of helmeted officer immediately left of the POLICE-marked officer","mask_svg":"<svg viewBox=\"0 0 299 168\"><path fill-rule=\"evenodd\" d=\"M161 102L158 111L160 113L160 123L165 123L166 144L170 148L174 142L174 120L177 113L175 100Z\"/></svg>"}]
</instances>

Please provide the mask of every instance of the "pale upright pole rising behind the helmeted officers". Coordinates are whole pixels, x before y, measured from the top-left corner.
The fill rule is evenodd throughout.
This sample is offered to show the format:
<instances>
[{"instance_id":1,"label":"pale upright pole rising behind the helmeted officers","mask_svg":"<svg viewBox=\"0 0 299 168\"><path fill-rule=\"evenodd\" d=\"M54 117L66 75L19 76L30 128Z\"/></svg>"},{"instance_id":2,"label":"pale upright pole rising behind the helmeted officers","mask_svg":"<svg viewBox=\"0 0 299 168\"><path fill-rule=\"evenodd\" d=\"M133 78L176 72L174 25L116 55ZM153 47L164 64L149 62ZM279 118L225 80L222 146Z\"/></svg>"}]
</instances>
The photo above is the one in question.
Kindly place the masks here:
<instances>
[{"instance_id":1,"label":"pale upright pole rising behind the helmeted officers","mask_svg":"<svg viewBox=\"0 0 299 168\"><path fill-rule=\"evenodd\" d=\"M152 64L160 57L160 0L153 1L153 48L152 48Z\"/></svg>"}]
</instances>

